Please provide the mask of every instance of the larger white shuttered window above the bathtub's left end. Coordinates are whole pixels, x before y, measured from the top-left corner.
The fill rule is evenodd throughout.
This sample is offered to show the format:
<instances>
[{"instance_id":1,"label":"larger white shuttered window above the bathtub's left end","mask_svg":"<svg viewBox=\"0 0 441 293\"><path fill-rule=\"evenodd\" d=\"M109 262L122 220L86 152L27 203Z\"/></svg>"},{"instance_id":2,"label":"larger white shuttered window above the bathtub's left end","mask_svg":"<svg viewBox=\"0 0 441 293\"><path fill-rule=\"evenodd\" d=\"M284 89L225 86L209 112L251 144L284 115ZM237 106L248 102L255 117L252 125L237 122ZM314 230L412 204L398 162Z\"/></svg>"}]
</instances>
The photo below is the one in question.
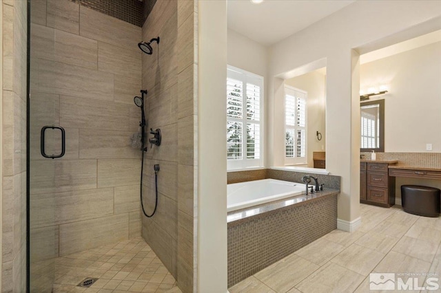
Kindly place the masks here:
<instances>
[{"instance_id":1,"label":"larger white shuttered window above the bathtub's left end","mask_svg":"<svg viewBox=\"0 0 441 293\"><path fill-rule=\"evenodd\" d=\"M263 77L227 69L228 169L263 166Z\"/></svg>"}]
</instances>

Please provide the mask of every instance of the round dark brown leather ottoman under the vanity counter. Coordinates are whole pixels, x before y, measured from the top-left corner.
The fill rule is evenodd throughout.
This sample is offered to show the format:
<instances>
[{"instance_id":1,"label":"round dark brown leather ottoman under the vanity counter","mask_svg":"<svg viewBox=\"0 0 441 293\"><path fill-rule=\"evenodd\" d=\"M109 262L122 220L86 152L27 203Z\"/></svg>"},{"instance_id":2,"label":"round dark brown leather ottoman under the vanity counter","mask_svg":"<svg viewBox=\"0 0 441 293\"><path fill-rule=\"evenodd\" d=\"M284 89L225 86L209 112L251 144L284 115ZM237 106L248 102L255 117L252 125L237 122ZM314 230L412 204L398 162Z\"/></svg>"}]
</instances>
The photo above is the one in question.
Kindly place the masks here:
<instances>
[{"instance_id":1,"label":"round dark brown leather ottoman under the vanity counter","mask_svg":"<svg viewBox=\"0 0 441 293\"><path fill-rule=\"evenodd\" d=\"M441 213L440 193L440 189L434 187L402 185L402 209L413 215L438 217Z\"/></svg>"}]
</instances>

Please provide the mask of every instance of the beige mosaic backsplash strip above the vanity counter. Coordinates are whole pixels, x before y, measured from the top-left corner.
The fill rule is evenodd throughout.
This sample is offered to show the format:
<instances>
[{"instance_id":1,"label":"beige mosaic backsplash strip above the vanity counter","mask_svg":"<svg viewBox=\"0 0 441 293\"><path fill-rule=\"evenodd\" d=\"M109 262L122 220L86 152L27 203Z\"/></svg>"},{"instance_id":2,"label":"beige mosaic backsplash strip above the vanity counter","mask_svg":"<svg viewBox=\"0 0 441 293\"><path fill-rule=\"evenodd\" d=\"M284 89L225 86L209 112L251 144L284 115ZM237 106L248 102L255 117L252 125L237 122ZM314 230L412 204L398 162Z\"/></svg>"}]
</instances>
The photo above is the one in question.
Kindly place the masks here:
<instances>
[{"instance_id":1,"label":"beige mosaic backsplash strip above the vanity counter","mask_svg":"<svg viewBox=\"0 0 441 293\"><path fill-rule=\"evenodd\" d=\"M360 153L370 160L371 153ZM377 160L398 160L397 166L441 167L441 153L377 153Z\"/></svg>"}]
</instances>

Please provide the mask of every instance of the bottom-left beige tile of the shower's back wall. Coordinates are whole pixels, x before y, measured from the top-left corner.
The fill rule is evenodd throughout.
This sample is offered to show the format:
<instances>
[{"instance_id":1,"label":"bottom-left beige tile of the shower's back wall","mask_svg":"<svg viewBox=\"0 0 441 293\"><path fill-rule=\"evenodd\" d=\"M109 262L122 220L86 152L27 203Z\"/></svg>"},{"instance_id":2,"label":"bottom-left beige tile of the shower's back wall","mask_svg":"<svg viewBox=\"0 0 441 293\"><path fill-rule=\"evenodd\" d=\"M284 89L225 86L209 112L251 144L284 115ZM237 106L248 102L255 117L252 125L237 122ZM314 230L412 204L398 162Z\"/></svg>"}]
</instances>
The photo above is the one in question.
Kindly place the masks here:
<instances>
[{"instance_id":1,"label":"bottom-left beige tile of the shower's back wall","mask_svg":"<svg viewBox=\"0 0 441 293\"><path fill-rule=\"evenodd\" d=\"M58 226L30 229L30 263L58 257Z\"/></svg>"}]
</instances>

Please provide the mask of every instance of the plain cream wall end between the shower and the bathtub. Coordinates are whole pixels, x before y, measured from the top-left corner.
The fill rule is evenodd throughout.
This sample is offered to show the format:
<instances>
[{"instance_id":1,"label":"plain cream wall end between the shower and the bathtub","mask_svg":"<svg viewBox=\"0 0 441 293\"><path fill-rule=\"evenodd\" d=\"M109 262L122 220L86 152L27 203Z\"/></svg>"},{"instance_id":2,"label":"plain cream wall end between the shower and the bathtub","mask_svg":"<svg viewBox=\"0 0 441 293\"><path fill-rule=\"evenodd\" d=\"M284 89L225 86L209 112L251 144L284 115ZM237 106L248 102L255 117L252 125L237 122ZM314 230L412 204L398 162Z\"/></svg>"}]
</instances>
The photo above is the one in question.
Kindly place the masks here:
<instances>
[{"instance_id":1,"label":"plain cream wall end between the shower and the bathtub","mask_svg":"<svg viewBox=\"0 0 441 293\"><path fill-rule=\"evenodd\" d=\"M227 1L198 1L197 292L227 292ZM213 111L216 109L216 111Z\"/></svg>"}]
</instances>

